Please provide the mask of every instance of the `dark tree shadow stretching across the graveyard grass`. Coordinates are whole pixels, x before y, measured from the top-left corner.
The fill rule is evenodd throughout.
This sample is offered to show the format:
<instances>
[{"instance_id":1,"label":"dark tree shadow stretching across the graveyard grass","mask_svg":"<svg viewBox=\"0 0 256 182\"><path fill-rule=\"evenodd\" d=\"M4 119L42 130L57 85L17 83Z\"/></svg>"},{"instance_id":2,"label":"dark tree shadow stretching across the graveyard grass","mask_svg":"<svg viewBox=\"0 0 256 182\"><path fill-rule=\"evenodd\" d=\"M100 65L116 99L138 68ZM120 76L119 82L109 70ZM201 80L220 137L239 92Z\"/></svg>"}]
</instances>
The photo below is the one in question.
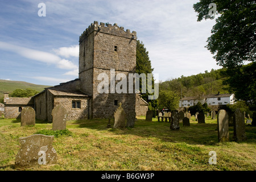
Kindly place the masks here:
<instances>
[{"instance_id":1,"label":"dark tree shadow stretching across the graveyard grass","mask_svg":"<svg viewBox=\"0 0 256 182\"><path fill-rule=\"evenodd\" d=\"M217 123L191 123L191 126L183 126L180 123L180 130L170 129L170 122L147 122L137 119L133 128L113 129L108 128L108 119L87 119L73 121L77 127L86 127L92 130L108 131L120 135L137 135L139 137L155 137L164 142L185 142L188 144L216 145L218 142ZM113 119L110 122L113 127ZM233 139L233 126L229 127L229 141ZM256 143L256 127L246 126L247 140L240 143Z\"/></svg>"}]
</instances>

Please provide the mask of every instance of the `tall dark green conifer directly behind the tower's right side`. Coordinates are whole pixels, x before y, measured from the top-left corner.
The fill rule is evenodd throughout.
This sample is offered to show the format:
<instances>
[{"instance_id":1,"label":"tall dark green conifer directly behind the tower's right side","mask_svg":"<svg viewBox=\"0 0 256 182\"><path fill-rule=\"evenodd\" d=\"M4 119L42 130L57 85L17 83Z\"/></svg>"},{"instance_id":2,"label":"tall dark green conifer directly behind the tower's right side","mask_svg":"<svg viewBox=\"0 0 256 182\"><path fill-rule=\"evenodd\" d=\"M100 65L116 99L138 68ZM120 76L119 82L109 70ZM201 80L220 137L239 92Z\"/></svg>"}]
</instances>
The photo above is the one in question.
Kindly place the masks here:
<instances>
[{"instance_id":1,"label":"tall dark green conifer directly behind the tower's right side","mask_svg":"<svg viewBox=\"0 0 256 182\"><path fill-rule=\"evenodd\" d=\"M148 56L148 51L144 47L144 44L137 40L137 49L136 49L136 72L140 75L141 73L144 73L147 76L147 73L152 73L154 71L154 68L151 68L151 61ZM146 79L147 80L147 79ZM142 81L140 79L140 88L142 98L148 102L149 109L154 109L158 106L158 100L148 100L148 91L146 93L142 92ZM143 82L143 84L146 84L146 82ZM154 89L154 78L152 79L152 89Z\"/></svg>"}]
</instances>

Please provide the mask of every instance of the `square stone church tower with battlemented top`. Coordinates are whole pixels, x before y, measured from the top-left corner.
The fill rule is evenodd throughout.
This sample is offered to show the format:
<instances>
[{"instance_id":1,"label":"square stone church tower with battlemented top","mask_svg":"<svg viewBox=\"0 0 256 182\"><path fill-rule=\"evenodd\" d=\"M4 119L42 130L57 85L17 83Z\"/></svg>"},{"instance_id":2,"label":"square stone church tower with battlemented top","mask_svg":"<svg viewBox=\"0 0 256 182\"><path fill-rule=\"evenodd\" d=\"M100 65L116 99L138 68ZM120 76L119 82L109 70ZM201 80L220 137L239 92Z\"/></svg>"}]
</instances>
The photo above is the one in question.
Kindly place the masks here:
<instances>
[{"instance_id":1,"label":"square stone church tower with battlemented top","mask_svg":"<svg viewBox=\"0 0 256 182\"><path fill-rule=\"evenodd\" d=\"M126 31L117 24L106 24L94 21L82 33L79 39L79 78L80 90L90 96L90 118L113 117L119 102L126 114L135 112L135 92L129 93L128 74L136 69L136 32ZM127 78L127 93L110 90L110 73L115 76L123 73ZM108 75L109 92L99 93L98 75ZM113 78L113 77L112 77ZM115 85L119 81L115 79ZM134 87L133 87L134 88Z\"/></svg>"}]
</instances>

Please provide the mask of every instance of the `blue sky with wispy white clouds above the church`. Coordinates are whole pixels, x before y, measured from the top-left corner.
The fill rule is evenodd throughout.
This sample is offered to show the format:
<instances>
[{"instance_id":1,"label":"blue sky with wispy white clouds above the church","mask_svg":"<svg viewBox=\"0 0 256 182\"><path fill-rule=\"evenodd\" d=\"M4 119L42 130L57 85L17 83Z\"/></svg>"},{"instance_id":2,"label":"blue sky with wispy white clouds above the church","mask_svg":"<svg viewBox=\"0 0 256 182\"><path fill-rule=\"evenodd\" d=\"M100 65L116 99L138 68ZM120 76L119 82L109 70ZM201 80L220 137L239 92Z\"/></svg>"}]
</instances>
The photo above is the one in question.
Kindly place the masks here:
<instances>
[{"instance_id":1,"label":"blue sky with wispy white clouds above the church","mask_svg":"<svg viewBox=\"0 0 256 182\"><path fill-rule=\"evenodd\" d=\"M57 85L78 78L79 36L94 20L137 31L159 80L219 69L205 48L215 21L197 22L198 1L0 0L0 79Z\"/></svg>"}]
</instances>

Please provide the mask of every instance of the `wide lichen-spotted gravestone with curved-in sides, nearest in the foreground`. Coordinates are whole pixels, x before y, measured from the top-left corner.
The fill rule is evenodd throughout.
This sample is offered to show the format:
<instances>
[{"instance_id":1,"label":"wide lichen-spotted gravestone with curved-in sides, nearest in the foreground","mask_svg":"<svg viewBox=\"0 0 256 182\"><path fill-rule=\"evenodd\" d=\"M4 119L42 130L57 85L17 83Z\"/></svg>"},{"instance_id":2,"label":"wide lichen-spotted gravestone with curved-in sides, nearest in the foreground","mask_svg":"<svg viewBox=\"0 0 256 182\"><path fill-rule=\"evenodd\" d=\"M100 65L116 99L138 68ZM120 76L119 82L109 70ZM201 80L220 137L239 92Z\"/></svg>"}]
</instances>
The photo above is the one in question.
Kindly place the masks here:
<instances>
[{"instance_id":1,"label":"wide lichen-spotted gravestone with curved-in sides, nearest in the foreground","mask_svg":"<svg viewBox=\"0 0 256 182\"><path fill-rule=\"evenodd\" d=\"M19 138L21 146L16 155L15 167L33 167L56 163L57 154L52 146L53 138L53 136L40 134Z\"/></svg>"}]
</instances>

